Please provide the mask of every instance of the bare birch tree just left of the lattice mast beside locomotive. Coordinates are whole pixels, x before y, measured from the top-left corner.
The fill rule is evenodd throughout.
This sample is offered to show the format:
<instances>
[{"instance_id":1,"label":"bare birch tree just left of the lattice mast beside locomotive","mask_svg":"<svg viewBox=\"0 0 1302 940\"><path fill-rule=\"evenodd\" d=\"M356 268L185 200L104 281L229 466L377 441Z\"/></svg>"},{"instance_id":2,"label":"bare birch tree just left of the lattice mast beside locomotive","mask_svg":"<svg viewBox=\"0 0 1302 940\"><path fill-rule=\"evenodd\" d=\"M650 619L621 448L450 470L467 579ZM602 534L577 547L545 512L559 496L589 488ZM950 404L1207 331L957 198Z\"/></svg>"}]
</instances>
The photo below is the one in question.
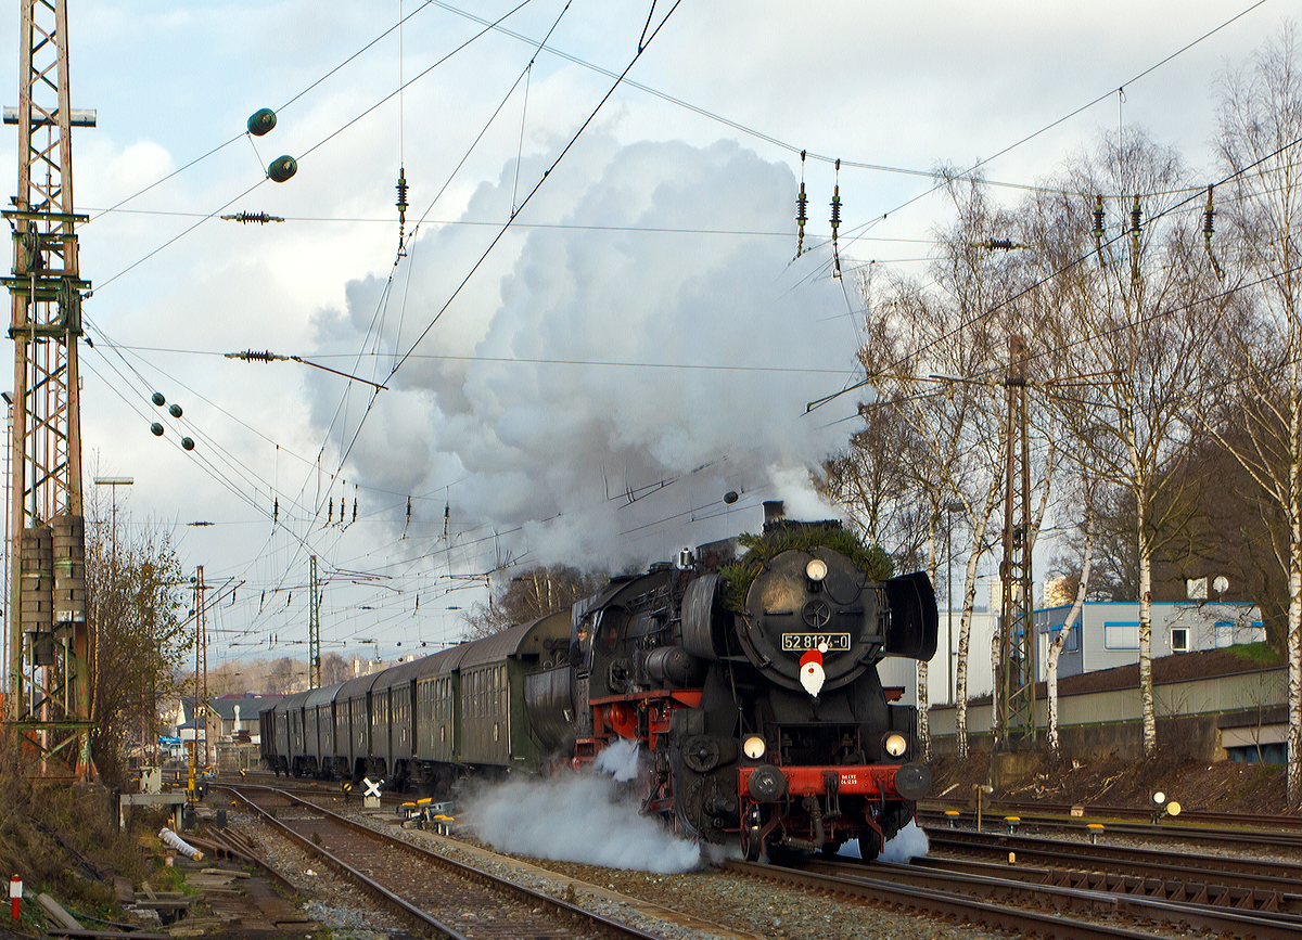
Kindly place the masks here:
<instances>
[{"instance_id":1,"label":"bare birch tree just left of the lattice mast beside locomotive","mask_svg":"<svg viewBox=\"0 0 1302 940\"><path fill-rule=\"evenodd\" d=\"M926 564L934 577L940 564L937 535L948 506L957 503L966 510L971 548L956 668L957 747L966 759L976 572L991 548L987 532L1004 492L1008 337L1027 332L1027 324L1022 309L1010 302L1021 292L1023 266L996 246L1012 230L1013 215L992 204L978 181L956 181L949 191L957 219L937 233L941 247L928 271L930 281L896 279L881 297L866 297L868 340L859 358L880 398L870 409L885 410L923 444L911 454L909 471L923 509L918 531L926 532ZM1036 453L1047 449L1036 448ZM1042 471L1040 483L1043 477ZM926 680L923 664L919 702L926 700Z\"/></svg>"}]
</instances>

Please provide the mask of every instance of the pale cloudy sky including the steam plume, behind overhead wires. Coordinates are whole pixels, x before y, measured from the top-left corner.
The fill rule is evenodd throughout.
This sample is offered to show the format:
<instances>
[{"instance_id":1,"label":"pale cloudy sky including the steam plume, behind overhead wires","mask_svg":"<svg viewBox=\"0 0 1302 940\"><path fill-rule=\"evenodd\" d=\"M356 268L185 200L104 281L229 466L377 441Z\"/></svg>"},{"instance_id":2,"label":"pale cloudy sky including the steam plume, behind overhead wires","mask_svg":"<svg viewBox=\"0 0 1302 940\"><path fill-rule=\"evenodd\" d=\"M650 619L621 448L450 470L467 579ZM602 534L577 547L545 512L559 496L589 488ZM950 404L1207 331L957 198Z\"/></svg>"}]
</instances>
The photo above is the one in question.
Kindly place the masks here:
<instances>
[{"instance_id":1,"label":"pale cloudy sky including the steam plume, behind overhead wires","mask_svg":"<svg viewBox=\"0 0 1302 940\"><path fill-rule=\"evenodd\" d=\"M74 133L87 477L133 477L120 516L238 585L210 661L306 655L312 553L323 651L392 659L457 635L471 575L644 565L756 530L767 499L827 514L809 469L854 398L803 413L854 379L854 272L921 272L945 220L932 178L842 165L831 277L829 158L966 168L1103 96L987 177L1042 180L1118 124L1210 177L1216 78L1294 9L684 0L629 72L644 87L578 133L650 3L516 3L69 4L73 107L98 109ZM276 128L245 135L263 107ZM297 176L267 181L281 154ZM215 217L238 211L285 221ZM223 358L247 349L388 388Z\"/></svg>"}]
</instances>

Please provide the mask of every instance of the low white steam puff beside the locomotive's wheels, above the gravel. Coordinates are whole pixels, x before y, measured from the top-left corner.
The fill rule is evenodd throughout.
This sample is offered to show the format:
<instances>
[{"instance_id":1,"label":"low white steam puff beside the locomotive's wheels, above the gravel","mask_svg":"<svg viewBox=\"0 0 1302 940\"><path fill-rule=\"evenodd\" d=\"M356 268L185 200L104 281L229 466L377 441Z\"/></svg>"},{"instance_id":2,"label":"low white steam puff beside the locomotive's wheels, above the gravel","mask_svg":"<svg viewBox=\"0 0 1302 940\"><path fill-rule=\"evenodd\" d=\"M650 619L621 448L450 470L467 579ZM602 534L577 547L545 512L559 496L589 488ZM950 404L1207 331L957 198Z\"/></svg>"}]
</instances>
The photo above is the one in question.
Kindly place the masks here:
<instances>
[{"instance_id":1,"label":"low white steam puff beside the locomotive's wheels, above the gravel","mask_svg":"<svg viewBox=\"0 0 1302 940\"><path fill-rule=\"evenodd\" d=\"M487 785L464 799L461 818L500 851L556 862L656 874L691 871L700 848L638 815L638 801L620 781L637 776L637 745L617 742L595 768L553 777Z\"/></svg>"}]
</instances>

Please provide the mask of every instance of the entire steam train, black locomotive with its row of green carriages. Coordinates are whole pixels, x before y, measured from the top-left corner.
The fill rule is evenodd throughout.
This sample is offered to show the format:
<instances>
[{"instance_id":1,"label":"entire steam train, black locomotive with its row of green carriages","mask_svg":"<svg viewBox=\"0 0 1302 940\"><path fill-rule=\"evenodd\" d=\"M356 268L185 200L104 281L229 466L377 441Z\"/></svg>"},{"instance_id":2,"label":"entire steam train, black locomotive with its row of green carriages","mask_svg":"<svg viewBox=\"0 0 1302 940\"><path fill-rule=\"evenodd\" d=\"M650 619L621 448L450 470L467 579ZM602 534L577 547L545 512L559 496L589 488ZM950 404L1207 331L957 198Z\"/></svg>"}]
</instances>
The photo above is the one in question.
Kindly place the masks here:
<instances>
[{"instance_id":1,"label":"entire steam train, black locomotive with its row of green carriages","mask_svg":"<svg viewBox=\"0 0 1302 940\"><path fill-rule=\"evenodd\" d=\"M686 837L875 858L931 786L883 656L928 660L923 573L764 504L759 536L684 549L573 609L262 715L268 767L445 792L637 742L642 812ZM738 548L745 551L738 553Z\"/></svg>"}]
</instances>

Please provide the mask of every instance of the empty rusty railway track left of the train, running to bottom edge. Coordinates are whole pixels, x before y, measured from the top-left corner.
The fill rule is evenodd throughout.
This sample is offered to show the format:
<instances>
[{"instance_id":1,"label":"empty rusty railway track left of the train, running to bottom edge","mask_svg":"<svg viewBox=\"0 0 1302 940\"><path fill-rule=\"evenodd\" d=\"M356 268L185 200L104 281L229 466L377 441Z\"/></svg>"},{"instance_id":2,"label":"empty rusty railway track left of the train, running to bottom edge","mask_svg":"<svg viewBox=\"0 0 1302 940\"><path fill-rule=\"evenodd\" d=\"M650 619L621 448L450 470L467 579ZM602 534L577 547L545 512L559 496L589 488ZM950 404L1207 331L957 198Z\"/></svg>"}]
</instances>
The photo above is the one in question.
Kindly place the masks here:
<instances>
[{"instance_id":1,"label":"empty rusty railway track left of the train, running to bottom edge","mask_svg":"<svg viewBox=\"0 0 1302 940\"><path fill-rule=\"evenodd\" d=\"M418 931L449 940L664 940L393 838L283 790L223 785Z\"/></svg>"}]
</instances>

